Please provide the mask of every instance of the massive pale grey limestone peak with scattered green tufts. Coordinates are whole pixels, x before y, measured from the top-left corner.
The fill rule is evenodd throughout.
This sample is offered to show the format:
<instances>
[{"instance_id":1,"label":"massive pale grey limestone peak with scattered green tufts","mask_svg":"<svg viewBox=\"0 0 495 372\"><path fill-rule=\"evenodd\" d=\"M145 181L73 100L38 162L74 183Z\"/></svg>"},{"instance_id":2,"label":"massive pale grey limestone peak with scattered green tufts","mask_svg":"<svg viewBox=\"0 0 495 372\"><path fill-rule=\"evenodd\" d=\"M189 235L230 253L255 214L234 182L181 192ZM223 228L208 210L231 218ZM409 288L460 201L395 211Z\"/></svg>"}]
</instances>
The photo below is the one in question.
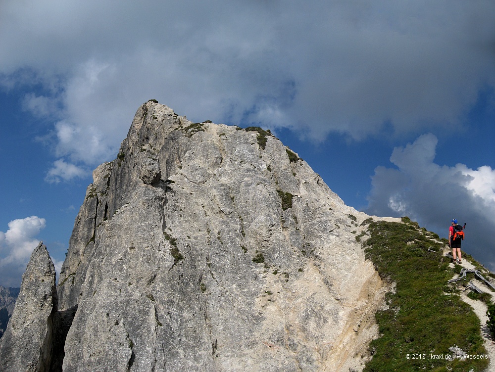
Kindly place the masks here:
<instances>
[{"instance_id":1,"label":"massive pale grey limestone peak with scattered green tufts","mask_svg":"<svg viewBox=\"0 0 495 372\"><path fill-rule=\"evenodd\" d=\"M148 101L93 177L58 285L64 371L363 368L387 291L371 218L269 132Z\"/></svg>"}]
</instances>

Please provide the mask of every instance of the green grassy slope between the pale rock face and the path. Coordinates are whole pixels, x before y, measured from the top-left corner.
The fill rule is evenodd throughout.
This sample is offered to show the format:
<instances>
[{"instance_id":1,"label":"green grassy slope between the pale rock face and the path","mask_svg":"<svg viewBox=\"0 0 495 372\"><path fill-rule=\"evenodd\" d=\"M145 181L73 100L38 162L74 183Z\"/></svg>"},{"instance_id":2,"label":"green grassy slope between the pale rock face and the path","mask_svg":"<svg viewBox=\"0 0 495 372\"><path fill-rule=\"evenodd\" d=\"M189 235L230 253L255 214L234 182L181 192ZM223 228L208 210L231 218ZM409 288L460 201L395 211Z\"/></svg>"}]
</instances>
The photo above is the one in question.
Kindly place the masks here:
<instances>
[{"instance_id":1,"label":"green grassy slope between the pale rock face and the path","mask_svg":"<svg viewBox=\"0 0 495 372\"><path fill-rule=\"evenodd\" d=\"M480 320L447 284L454 271L443 257L444 243L408 218L403 221L371 223L364 243L380 276L396 283L389 308L376 314L381 337L371 342L374 355L364 371L483 371L487 359L430 357L452 355L448 348L454 345L471 356L486 350Z\"/></svg>"}]
</instances>

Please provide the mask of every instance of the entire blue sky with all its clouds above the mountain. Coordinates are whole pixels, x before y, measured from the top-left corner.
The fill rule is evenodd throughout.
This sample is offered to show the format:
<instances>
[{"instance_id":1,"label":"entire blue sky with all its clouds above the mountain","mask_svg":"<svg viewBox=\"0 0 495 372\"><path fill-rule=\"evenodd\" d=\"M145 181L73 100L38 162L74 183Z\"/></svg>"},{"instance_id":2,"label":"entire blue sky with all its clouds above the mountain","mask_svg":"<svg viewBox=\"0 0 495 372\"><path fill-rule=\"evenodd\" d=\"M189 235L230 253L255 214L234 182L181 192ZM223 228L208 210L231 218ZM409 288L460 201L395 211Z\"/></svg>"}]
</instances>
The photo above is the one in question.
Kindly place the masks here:
<instances>
[{"instance_id":1,"label":"entire blue sky with all its clouds above the mountain","mask_svg":"<svg viewBox=\"0 0 495 372\"><path fill-rule=\"evenodd\" d=\"M0 2L0 285L59 268L91 173L148 99L270 129L347 205L495 271L495 2Z\"/></svg>"}]
</instances>

